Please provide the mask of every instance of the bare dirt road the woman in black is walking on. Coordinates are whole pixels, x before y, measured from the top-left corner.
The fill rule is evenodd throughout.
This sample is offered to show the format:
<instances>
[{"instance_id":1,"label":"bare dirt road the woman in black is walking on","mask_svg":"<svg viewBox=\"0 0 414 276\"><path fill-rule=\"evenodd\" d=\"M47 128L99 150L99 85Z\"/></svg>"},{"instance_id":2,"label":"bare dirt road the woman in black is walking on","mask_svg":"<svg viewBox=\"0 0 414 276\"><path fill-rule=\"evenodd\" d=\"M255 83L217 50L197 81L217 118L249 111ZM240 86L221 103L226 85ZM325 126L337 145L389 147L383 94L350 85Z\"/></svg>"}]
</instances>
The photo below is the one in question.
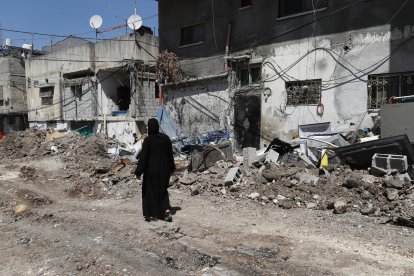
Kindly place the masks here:
<instances>
[{"instance_id":1,"label":"bare dirt road the woman in black is walking on","mask_svg":"<svg viewBox=\"0 0 414 276\"><path fill-rule=\"evenodd\" d=\"M413 229L359 213L173 189L174 221L147 223L138 181L119 199L69 183L59 157L1 162L1 275L414 275Z\"/></svg>"}]
</instances>

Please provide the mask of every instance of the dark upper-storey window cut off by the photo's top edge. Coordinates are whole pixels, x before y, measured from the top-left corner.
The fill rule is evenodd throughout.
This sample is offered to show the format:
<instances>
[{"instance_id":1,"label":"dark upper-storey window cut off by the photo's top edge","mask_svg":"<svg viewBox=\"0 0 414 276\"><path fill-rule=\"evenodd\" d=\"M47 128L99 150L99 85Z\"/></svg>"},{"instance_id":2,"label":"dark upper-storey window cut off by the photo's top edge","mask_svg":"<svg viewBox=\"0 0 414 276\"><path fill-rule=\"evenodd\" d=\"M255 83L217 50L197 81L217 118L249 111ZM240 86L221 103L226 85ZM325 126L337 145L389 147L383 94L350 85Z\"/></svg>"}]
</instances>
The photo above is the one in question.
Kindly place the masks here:
<instances>
[{"instance_id":1,"label":"dark upper-storey window cut off by the photo's top edge","mask_svg":"<svg viewBox=\"0 0 414 276\"><path fill-rule=\"evenodd\" d=\"M327 6L327 0L279 0L279 17L301 14Z\"/></svg>"}]
</instances>

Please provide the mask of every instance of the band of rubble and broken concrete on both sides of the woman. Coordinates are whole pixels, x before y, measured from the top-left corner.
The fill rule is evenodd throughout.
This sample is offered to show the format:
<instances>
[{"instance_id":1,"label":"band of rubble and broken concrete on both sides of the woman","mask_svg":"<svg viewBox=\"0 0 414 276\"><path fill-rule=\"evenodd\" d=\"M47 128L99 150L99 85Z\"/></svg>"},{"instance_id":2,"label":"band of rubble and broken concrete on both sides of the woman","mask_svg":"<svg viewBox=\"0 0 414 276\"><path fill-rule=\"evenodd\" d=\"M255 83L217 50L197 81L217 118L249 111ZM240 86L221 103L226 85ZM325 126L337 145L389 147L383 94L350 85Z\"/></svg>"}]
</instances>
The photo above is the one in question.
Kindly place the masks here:
<instances>
[{"instance_id":1,"label":"band of rubble and broken concrete on both sides of the woman","mask_svg":"<svg viewBox=\"0 0 414 276\"><path fill-rule=\"evenodd\" d=\"M45 138L46 132L35 129L11 133L0 141L0 151L5 153L6 159L35 160L52 154L51 147L56 146L58 152L53 153L53 158L61 158L64 163L59 181L68 187L65 190L68 196L120 199L134 196L135 189L131 187L140 183L133 174L134 162L128 158L129 155L118 154L114 159L108 154L116 153L113 149L122 148L121 143L100 135L85 138L72 132L53 142ZM398 141L397 145L403 143ZM262 150L263 153L256 151L254 156L258 156L260 161L255 161L254 166L238 163L237 160L243 158L231 155L229 159L223 159L219 150L207 148L206 156L211 162L199 163L202 170L192 171L193 168L188 167L190 155L176 157L179 169L171 178L170 189L183 190L194 196L273 203L275 207L284 209L330 209L335 214L358 212L394 222L399 217L409 220L406 214L414 213L414 186L408 173L393 171L392 175L374 176L369 174L368 168L356 170L334 164L321 174L319 169L303 162L299 157L301 153L294 146L280 140L274 141L267 151ZM226 147L224 149L227 150ZM228 149L231 150L230 147ZM211 155L213 151L222 160L213 158L216 156ZM266 164L266 156L273 154L272 151L279 154L279 160ZM406 156L410 166L410 155ZM372 162L372 156L370 160ZM20 177L26 181L38 181L39 173L26 166L21 169ZM35 196L33 200L48 202Z\"/></svg>"}]
</instances>

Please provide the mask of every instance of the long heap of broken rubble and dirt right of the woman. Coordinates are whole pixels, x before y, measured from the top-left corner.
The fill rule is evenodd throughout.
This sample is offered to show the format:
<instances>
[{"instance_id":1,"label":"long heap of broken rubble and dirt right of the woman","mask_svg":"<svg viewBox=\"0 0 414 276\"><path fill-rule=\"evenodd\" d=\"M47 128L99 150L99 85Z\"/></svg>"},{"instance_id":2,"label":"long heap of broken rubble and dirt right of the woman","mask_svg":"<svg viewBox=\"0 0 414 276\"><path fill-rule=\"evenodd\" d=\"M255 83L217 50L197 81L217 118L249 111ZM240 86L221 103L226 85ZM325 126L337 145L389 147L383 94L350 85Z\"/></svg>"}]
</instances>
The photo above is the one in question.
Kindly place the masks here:
<instances>
[{"instance_id":1,"label":"long heap of broken rubble and dirt right of the woman","mask_svg":"<svg viewBox=\"0 0 414 276\"><path fill-rule=\"evenodd\" d=\"M229 166L232 166L229 163ZM410 220L414 217L414 186L408 174L375 177L368 171L336 167L330 173L292 164L268 164L260 172L241 168L239 183L224 181L228 169L210 167L204 172L187 171L172 179L173 187L191 195L216 195L280 208L332 209L335 214L362 215Z\"/></svg>"}]
</instances>

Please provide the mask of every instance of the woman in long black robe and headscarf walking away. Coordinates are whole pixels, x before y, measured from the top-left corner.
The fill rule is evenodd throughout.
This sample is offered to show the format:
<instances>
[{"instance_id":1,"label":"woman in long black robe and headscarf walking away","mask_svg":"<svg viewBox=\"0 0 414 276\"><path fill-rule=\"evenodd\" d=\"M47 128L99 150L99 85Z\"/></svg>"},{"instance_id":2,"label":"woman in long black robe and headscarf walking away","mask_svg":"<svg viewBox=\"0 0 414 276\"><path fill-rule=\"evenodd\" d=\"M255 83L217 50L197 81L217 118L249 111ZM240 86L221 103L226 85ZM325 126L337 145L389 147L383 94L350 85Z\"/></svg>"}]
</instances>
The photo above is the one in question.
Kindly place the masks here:
<instances>
[{"instance_id":1,"label":"woman in long black robe and headscarf walking away","mask_svg":"<svg viewBox=\"0 0 414 276\"><path fill-rule=\"evenodd\" d=\"M148 137L145 138L135 170L142 181L142 211L145 221L150 217L172 221L168 184L175 170L170 138L159 132L157 119L148 120Z\"/></svg>"}]
</instances>

